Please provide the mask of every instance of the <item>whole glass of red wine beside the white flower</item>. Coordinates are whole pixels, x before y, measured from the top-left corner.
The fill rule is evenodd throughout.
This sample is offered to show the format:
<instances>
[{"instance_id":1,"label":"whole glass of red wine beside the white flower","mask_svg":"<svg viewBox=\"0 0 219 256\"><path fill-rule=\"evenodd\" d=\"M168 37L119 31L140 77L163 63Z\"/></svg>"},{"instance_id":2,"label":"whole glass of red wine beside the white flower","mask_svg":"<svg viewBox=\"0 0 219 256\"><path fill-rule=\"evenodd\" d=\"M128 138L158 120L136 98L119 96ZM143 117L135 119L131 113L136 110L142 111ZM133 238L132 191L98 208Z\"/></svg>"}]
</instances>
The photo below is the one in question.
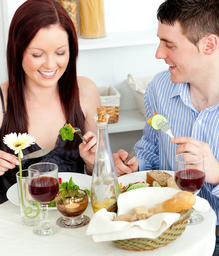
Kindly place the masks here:
<instances>
[{"instance_id":1,"label":"whole glass of red wine beside the white flower","mask_svg":"<svg viewBox=\"0 0 219 256\"><path fill-rule=\"evenodd\" d=\"M59 191L58 166L53 163L32 164L28 168L29 193L40 202L42 209L42 225L34 228L34 233L49 236L60 231L60 227L52 226L48 219L48 204L56 197Z\"/></svg>"}]
</instances>

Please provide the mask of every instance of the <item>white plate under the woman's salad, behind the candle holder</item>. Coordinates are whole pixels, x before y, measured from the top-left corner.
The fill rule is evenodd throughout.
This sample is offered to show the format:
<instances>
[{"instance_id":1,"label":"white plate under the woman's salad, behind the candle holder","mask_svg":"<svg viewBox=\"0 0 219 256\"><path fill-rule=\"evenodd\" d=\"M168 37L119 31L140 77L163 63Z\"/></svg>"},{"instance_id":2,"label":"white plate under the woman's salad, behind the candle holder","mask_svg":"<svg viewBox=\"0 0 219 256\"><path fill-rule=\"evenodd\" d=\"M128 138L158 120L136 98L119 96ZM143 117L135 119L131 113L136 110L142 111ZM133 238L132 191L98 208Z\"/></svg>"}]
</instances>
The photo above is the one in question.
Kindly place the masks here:
<instances>
[{"instance_id":1,"label":"white plate under the woman's salad, behind the candle holder","mask_svg":"<svg viewBox=\"0 0 219 256\"><path fill-rule=\"evenodd\" d=\"M58 177L62 179L62 182L69 182L70 177L72 177L73 182L79 186L80 189L88 189L91 190L91 181L92 176L82 174L82 173L58 173ZM13 204L19 205L19 198L18 198L18 187L17 183L13 184L8 191L7 191L7 198ZM90 198L89 198L90 202ZM48 209L56 210L56 207L48 207Z\"/></svg>"}]
</instances>

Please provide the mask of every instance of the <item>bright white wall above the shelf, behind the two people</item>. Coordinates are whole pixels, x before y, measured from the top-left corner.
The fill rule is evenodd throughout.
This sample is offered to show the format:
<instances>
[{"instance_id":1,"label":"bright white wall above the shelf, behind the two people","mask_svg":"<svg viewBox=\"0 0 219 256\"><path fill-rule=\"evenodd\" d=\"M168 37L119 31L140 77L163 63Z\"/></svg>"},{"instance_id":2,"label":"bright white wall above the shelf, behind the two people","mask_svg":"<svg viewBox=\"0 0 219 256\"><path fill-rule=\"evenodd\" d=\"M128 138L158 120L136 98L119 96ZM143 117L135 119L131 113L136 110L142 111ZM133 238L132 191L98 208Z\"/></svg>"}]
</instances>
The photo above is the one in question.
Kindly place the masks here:
<instances>
[{"instance_id":1,"label":"bright white wall above the shelf, behind the two people","mask_svg":"<svg viewBox=\"0 0 219 256\"><path fill-rule=\"evenodd\" d=\"M9 22L25 0L0 0L8 6ZM164 0L104 0L108 33L156 28L156 11Z\"/></svg>"}]
</instances>

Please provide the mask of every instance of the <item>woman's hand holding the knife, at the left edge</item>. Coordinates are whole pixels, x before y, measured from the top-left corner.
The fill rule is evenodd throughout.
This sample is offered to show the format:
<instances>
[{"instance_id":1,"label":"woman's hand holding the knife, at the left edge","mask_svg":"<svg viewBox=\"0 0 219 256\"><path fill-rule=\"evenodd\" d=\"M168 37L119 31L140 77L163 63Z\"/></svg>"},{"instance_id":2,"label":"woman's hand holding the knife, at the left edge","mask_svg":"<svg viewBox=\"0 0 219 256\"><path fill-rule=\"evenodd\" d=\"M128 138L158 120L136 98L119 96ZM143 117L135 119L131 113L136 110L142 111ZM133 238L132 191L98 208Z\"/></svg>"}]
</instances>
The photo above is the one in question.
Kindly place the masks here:
<instances>
[{"instance_id":1,"label":"woman's hand holding the knife, at the left edge","mask_svg":"<svg viewBox=\"0 0 219 256\"><path fill-rule=\"evenodd\" d=\"M3 175L8 169L15 168L19 161L15 155L11 155L0 150L0 175Z\"/></svg>"}]
</instances>

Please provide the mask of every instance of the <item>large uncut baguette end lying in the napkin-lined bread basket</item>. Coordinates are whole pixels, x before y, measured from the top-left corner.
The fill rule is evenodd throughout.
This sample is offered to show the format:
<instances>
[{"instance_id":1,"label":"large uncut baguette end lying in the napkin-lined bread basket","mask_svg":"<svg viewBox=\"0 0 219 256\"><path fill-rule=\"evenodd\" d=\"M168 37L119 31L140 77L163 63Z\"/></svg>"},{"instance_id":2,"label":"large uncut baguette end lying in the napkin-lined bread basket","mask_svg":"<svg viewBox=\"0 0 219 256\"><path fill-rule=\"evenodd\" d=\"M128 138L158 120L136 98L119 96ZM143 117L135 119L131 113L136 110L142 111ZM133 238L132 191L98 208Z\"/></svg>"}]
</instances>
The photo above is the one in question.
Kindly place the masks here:
<instances>
[{"instance_id":1,"label":"large uncut baguette end lying in the napkin-lined bread basket","mask_svg":"<svg viewBox=\"0 0 219 256\"><path fill-rule=\"evenodd\" d=\"M195 204L195 201L195 196L192 193L180 191L172 198L155 204L148 212L153 214L163 212L181 213L182 211L190 209Z\"/></svg>"}]
</instances>

